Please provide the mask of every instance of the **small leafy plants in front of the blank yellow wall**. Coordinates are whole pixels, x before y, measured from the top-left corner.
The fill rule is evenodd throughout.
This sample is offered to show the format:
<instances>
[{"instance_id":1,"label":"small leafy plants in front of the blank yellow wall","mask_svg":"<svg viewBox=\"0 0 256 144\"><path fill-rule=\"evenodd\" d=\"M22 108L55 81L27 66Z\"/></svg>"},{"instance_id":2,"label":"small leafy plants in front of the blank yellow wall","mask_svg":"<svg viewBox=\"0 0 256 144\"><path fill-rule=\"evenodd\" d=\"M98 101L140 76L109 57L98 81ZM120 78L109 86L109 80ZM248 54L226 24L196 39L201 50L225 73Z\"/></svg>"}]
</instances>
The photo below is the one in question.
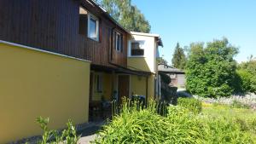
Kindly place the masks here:
<instances>
[{"instance_id":1,"label":"small leafy plants in front of the blank yellow wall","mask_svg":"<svg viewBox=\"0 0 256 144\"><path fill-rule=\"evenodd\" d=\"M49 118L37 118L38 124L44 133L42 135L42 141L39 141L38 144L76 144L79 141L79 136L76 133L75 127L72 124L71 120L67 122L67 129L62 130L61 132L57 130L49 130Z\"/></svg>"}]
</instances>

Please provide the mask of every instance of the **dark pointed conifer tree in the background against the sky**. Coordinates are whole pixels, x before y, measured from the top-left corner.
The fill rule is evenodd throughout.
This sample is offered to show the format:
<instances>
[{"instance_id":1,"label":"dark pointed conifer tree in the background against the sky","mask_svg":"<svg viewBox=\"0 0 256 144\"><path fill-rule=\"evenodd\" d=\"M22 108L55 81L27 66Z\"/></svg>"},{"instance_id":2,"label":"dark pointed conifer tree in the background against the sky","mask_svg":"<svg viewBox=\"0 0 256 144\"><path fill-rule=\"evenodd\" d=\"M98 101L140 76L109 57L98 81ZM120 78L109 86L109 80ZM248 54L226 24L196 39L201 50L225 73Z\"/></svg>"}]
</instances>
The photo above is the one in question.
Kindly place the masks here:
<instances>
[{"instance_id":1,"label":"dark pointed conifer tree in the background against the sky","mask_svg":"<svg viewBox=\"0 0 256 144\"><path fill-rule=\"evenodd\" d=\"M186 55L184 54L184 50L177 43L174 54L172 56L172 66L184 69L186 66Z\"/></svg>"}]
</instances>

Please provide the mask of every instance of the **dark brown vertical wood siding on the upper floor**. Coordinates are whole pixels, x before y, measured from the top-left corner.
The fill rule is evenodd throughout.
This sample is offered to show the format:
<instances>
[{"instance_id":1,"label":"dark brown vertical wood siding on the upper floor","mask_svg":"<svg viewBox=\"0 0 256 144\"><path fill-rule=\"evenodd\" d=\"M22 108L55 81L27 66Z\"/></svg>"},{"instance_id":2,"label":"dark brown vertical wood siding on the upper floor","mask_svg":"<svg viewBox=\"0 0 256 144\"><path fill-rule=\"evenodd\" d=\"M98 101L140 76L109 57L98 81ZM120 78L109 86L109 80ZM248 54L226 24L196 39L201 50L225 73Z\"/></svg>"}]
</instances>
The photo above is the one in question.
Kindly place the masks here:
<instances>
[{"instance_id":1,"label":"dark brown vertical wood siding on the upper floor","mask_svg":"<svg viewBox=\"0 0 256 144\"><path fill-rule=\"evenodd\" d=\"M79 34L80 4L99 18L100 42ZM109 31L114 28L123 34L122 53L110 48ZM126 66L128 35L85 0L0 1L0 39L11 43L91 60L96 65Z\"/></svg>"}]
</instances>

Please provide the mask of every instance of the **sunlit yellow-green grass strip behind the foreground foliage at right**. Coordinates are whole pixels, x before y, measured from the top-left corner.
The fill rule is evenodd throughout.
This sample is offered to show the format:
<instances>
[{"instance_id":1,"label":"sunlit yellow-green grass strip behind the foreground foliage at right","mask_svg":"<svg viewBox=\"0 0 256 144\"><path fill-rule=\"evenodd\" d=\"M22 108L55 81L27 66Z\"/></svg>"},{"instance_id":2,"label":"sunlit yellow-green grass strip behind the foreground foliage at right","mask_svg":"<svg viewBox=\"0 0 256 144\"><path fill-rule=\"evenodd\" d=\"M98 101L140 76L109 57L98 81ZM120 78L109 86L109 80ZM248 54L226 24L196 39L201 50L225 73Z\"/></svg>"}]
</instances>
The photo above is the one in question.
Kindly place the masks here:
<instances>
[{"instance_id":1,"label":"sunlit yellow-green grass strip behind the foreground foliage at right","mask_svg":"<svg viewBox=\"0 0 256 144\"><path fill-rule=\"evenodd\" d=\"M256 143L256 112L252 109L234 108L227 105L203 103L202 114L212 118L224 118L230 123L237 124L240 129L253 138Z\"/></svg>"}]
</instances>

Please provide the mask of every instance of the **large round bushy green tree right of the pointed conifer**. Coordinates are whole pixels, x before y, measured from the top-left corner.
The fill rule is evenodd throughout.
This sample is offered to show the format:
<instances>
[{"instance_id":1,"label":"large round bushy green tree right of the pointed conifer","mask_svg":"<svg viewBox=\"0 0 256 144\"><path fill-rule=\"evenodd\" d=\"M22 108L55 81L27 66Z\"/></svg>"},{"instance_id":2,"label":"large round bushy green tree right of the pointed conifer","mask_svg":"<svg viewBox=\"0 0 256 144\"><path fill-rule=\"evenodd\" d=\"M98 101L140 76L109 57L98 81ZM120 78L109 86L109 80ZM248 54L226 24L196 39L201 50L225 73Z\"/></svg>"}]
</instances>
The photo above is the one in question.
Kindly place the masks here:
<instances>
[{"instance_id":1,"label":"large round bushy green tree right of the pointed conifer","mask_svg":"<svg viewBox=\"0 0 256 144\"><path fill-rule=\"evenodd\" d=\"M227 38L207 43L191 43L186 65L187 89L204 97L230 96L236 78L238 49Z\"/></svg>"}]
</instances>

